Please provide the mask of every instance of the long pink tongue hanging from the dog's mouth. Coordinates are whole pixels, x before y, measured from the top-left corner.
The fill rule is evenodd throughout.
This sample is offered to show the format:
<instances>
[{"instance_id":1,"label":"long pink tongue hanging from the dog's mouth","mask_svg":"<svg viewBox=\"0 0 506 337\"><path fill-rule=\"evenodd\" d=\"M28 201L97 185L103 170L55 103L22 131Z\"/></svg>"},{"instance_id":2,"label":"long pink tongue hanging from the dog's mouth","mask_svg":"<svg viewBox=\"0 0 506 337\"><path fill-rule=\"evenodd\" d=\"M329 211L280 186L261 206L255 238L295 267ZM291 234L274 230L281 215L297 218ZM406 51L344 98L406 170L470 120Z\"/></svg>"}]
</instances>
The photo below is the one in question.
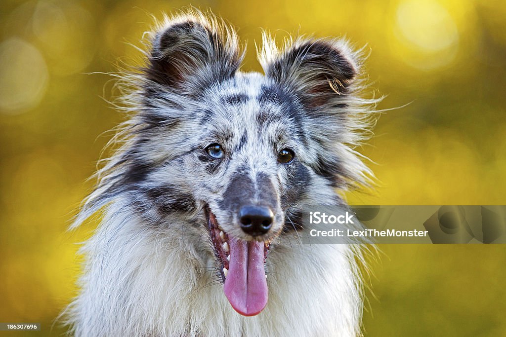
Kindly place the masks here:
<instances>
[{"instance_id":1,"label":"long pink tongue hanging from the dog's mouth","mask_svg":"<svg viewBox=\"0 0 506 337\"><path fill-rule=\"evenodd\" d=\"M225 279L225 296L244 316L259 314L267 305L264 243L229 238L230 265Z\"/></svg>"}]
</instances>

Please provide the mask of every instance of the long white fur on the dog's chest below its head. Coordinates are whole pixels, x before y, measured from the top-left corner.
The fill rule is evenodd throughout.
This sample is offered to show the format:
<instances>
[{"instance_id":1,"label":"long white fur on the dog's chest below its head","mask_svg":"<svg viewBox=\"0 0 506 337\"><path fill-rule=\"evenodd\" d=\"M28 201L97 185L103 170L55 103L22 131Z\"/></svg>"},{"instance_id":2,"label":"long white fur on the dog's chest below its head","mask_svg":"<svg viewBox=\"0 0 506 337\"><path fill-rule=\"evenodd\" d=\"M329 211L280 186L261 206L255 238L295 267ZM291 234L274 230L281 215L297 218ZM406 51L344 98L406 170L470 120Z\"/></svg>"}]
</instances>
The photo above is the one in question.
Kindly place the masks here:
<instances>
[{"instance_id":1,"label":"long white fur on the dog's chest below its head","mask_svg":"<svg viewBox=\"0 0 506 337\"><path fill-rule=\"evenodd\" d=\"M83 248L90 260L76 303L77 335L356 334L361 298L350 246L280 244L268 258L267 308L244 317L228 303L214 270L185 243L194 233L157 237L118 208L111 207Z\"/></svg>"}]
</instances>

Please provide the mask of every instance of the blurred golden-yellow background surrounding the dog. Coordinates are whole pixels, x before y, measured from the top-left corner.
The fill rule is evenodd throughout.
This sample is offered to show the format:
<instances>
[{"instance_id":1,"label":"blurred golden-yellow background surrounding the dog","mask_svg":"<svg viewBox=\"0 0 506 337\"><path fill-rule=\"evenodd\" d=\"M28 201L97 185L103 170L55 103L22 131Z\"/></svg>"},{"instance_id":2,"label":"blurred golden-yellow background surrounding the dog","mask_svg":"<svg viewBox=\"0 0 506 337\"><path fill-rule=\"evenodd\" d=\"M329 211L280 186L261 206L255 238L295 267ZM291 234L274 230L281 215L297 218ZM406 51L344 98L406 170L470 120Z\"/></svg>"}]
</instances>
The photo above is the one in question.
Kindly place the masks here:
<instances>
[{"instance_id":1,"label":"blurred golden-yellow background surrounding the dog","mask_svg":"<svg viewBox=\"0 0 506 337\"><path fill-rule=\"evenodd\" d=\"M78 245L65 229L93 181L114 63L139 57L142 33L180 1L40 0L0 4L0 321L51 325L75 293ZM367 44L372 87L402 106L361 151L381 184L354 204L506 204L506 2L503 0L201 1L254 41L277 33ZM105 133L104 133L105 132ZM389 245L371 279L367 336L506 335L506 246ZM4 332L5 333L5 332ZM0 335L3 335L0 332Z\"/></svg>"}]
</instances>

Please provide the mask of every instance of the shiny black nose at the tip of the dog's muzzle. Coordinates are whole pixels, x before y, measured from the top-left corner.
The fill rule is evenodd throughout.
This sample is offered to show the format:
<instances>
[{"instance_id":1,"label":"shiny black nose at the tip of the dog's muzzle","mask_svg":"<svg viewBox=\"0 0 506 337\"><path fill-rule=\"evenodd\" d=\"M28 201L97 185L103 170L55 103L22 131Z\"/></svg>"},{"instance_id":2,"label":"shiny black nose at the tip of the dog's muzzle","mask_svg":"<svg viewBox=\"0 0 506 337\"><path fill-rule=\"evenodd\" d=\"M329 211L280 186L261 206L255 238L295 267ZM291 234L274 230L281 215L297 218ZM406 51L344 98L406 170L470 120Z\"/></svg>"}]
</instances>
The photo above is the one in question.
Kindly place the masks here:
<instances>
[{"instance_id":1,"label":"shiny black nose at the tip of the dog's muzzle","mask_svg":"<svg viewBox=\"0 0 506 337\"><path fill-rule=\"evenodd\" d=\"M265 234L271 229L274 214L265 206L242 206L239 222L242 230L252 236Z\"/></svg>"}]
</instances>

